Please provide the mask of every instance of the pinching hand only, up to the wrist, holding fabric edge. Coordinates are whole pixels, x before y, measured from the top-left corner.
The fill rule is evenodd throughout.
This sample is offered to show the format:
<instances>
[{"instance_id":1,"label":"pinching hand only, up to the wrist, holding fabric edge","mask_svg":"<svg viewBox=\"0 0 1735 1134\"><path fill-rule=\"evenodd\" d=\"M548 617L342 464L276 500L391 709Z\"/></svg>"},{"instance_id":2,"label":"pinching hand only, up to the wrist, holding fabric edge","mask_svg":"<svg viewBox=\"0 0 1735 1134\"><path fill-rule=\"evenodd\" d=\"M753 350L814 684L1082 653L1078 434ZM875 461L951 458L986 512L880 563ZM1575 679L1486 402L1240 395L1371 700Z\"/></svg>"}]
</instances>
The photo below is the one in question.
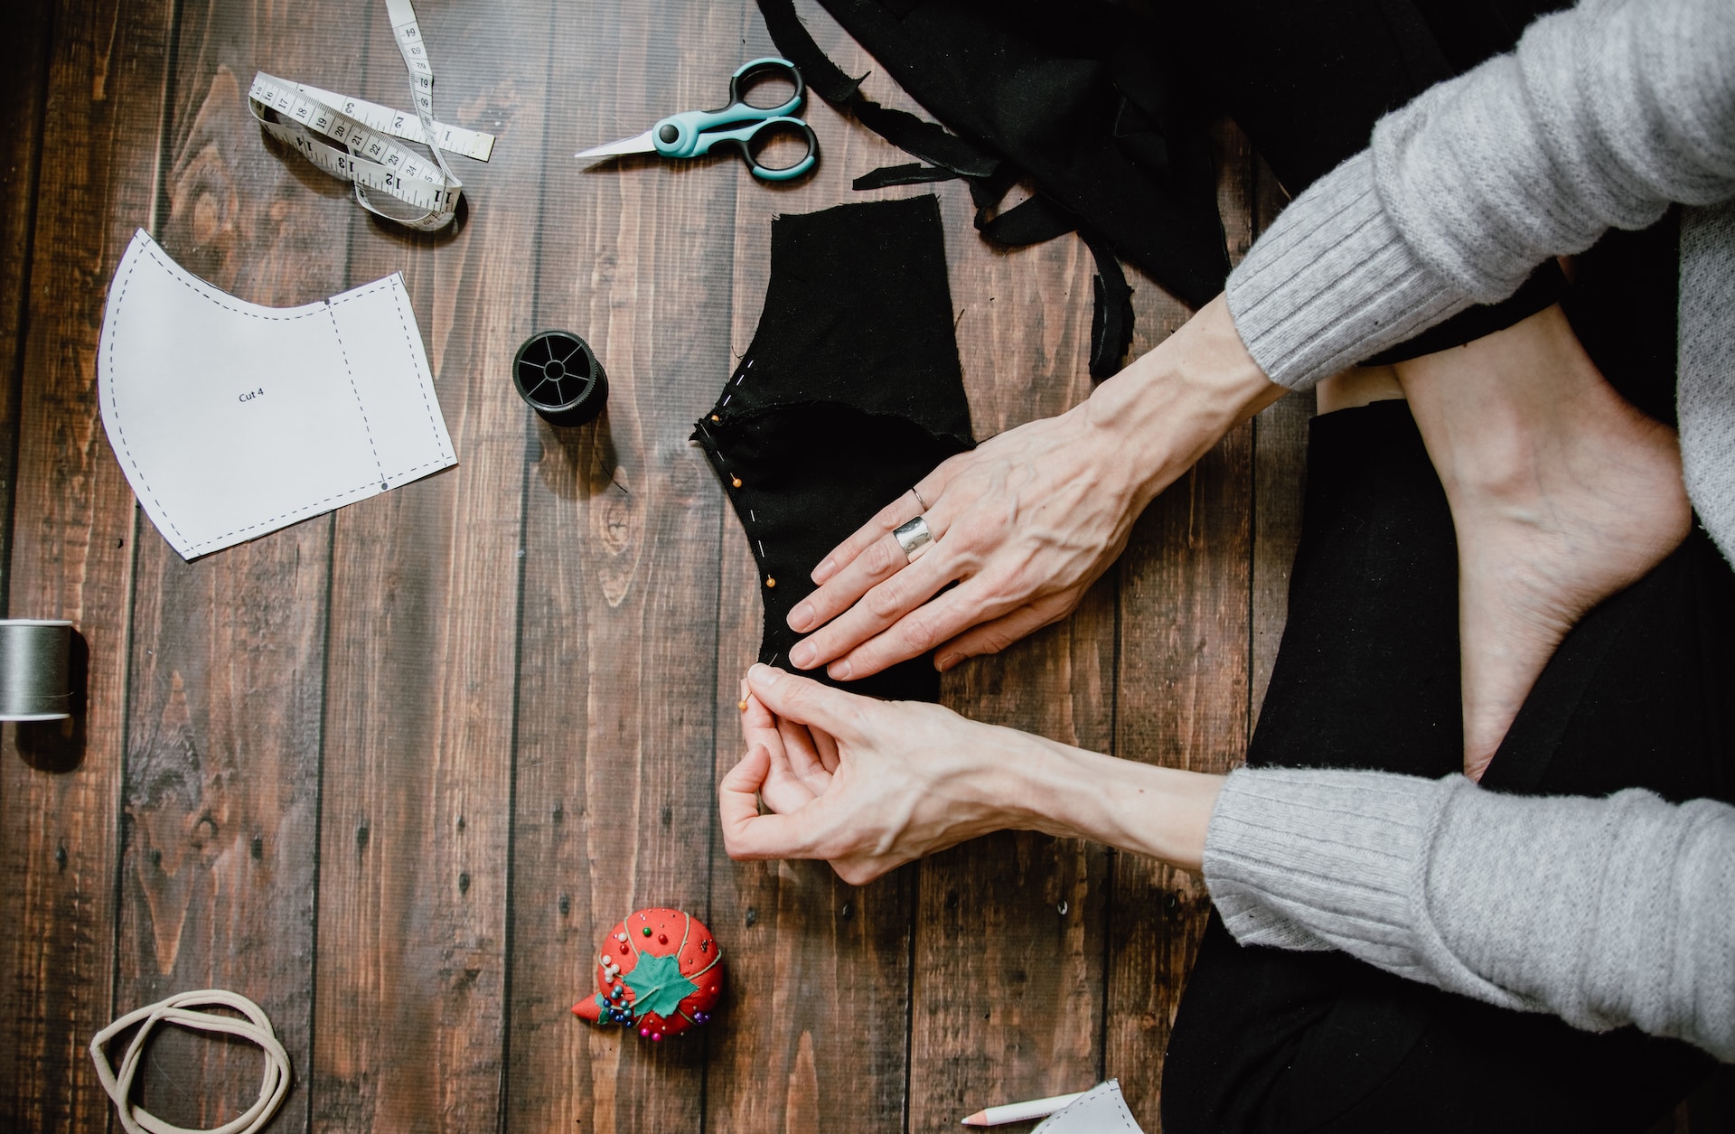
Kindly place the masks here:
<instances>
[{"instance_id":1,"label":"pinching hand only, up to the wrist, holding fabric edge","mask_svg":"<svg viewBox=\"0 0 1735 1134\"><path fill-rule=\"evenodd\" d=\"M718 789L730 858L824 858L859 886L979 834L1038 825L1013 787L1044 744L1036 737L770 666L753 666L748 685L748 756Z\"/></svg>"}]
</instances>

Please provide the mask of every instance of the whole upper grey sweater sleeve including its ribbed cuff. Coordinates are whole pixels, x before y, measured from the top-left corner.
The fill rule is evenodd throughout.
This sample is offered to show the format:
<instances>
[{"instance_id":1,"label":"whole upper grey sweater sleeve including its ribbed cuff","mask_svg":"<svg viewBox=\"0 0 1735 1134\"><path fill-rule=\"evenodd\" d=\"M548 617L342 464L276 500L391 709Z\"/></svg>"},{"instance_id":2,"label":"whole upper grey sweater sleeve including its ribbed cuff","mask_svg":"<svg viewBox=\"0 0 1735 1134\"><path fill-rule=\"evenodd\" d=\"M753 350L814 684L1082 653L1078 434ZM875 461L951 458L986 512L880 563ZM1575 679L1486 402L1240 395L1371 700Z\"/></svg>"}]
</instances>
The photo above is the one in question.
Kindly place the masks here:
<instances>
[{"instance_id":1,"label":"whole upper grey sweater sleeve including its ribbed cuff","mask_svg":"<svg viewBox=\"0 0 1735 1134\"><path fill-rule=\"evenodd\" d=\"M1273 381L1310 387L1669 203L1735 196L1735 3L1582 0L1385 116L1228 277Z\"/></svg>"}]
</instances>

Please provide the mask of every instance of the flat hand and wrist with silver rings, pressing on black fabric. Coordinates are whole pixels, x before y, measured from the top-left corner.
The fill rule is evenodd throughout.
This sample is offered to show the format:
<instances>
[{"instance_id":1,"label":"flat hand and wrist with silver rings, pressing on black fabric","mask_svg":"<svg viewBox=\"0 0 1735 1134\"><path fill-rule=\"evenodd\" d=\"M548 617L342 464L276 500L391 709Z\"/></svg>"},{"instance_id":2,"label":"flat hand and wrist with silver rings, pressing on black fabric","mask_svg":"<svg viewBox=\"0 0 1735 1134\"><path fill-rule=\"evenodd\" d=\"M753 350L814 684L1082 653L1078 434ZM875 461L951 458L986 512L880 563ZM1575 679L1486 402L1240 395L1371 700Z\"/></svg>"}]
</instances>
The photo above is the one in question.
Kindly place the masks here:
<instances>
[{"instance_id":1,"label":"flat hand and wrist with silver rings, pressing on black fabric","mask_svg":"<svg viewBox=\"0 0 1735 1134\"><path fill-rule=\"evenodd\" d=\"M848 680L937 650L949 669L1065 617L1157 492L1280 394L1218 297L1088 401L947 459L845 539L789 612L815 631L789 662ZM892 529L916 515L933 544L909 562Z\"/></svg>"}]
</instances>

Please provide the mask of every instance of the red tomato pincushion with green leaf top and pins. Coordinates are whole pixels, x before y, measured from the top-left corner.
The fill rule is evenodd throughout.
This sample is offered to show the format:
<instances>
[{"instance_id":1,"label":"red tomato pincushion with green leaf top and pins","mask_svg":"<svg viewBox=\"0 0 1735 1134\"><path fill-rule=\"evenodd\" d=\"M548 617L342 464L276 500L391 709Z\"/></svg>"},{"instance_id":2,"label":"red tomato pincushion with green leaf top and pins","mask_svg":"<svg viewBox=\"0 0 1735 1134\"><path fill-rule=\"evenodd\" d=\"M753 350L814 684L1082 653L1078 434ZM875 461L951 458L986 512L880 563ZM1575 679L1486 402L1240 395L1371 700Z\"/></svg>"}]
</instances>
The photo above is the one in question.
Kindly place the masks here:
<instances>
[{"instance_id":1,"label":"red tomato pincushion with green leaf top and pins","mask_svg":"<svg viewBox=\"0 0 1735 1134\"><path fill-rule=\"evenodd\" d=\"M723 950L691 914L637 910L602 938L595 973L597 995L573 1011L661 1040L710 1021L723 994Z\"/></svg>"}]
</instances>

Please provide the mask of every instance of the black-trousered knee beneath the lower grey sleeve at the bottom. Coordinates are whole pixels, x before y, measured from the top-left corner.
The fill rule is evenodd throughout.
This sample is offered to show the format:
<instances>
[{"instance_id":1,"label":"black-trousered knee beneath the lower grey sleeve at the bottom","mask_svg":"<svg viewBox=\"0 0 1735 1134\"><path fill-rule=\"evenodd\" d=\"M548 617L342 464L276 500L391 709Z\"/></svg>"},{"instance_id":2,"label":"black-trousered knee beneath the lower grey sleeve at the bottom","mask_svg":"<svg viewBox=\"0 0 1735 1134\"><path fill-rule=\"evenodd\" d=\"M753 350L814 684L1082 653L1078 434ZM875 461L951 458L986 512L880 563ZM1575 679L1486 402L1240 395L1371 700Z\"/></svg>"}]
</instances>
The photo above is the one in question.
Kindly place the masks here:
<instances>
[{"instance_id":1,"label":"black-trousered knee beneath the lower grey sleeve at the bottom","mask_svg":"<svg viewBox=\"0 0 1735 1134\"><path fill-rule=\"evenodd\" d=\"M1579 1032L1336 952L1242 948L1213 916L1162 1068L1166 1134L1636 1134L1712 1059Z\"/></svg>"}]
</instances>

